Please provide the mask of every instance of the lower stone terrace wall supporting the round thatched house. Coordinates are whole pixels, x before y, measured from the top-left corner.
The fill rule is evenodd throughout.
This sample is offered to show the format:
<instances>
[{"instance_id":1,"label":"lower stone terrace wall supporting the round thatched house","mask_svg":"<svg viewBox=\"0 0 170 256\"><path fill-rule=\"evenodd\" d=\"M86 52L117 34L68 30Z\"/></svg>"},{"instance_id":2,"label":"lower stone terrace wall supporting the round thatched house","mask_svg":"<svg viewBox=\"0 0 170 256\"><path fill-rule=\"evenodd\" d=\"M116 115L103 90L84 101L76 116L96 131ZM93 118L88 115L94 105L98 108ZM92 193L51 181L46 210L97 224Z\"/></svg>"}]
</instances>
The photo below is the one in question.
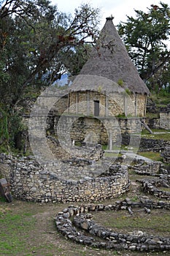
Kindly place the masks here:
<instances>
[{"instance_id":1,"label":"lower stone terrace wall supporting the round thatched house","mask_svg":"<svg viewBox=\"0 0 170 256\"><path fill-rule=\"evenodd\" d=\"M141 132L139 118L92 118L63 116L63 134L69 134L72 140L83 141L89 132L98 138L96 143L107 144L109 133L112 133L113 142L121 140L122 135ZM72 127L72 129L69 129ZM55 135L58 134L58 117L55 117Z\"/></svg>"}]
</instances>

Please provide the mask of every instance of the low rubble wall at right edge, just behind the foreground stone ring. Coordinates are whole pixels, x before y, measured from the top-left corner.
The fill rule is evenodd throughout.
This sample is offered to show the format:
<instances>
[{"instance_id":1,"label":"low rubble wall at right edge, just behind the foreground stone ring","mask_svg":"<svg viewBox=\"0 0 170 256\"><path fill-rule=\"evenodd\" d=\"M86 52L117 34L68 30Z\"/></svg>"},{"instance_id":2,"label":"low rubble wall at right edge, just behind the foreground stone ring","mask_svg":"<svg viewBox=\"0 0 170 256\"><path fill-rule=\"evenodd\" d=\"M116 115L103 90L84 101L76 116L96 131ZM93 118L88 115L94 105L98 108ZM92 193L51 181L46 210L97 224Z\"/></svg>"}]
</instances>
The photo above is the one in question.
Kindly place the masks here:
<instances>
[{"instance_id":1,"label":"low rubble wall at right edge, just behind the foreground stone ring","mask_svg":"<svg viewBox=\"0 0 170 256\"><path fill-rule=\"evenodd\" d=\"M165 200L170 200L170 192L163 191L163 187L170 187L170 175L161 175L160 178L155 180L142 180L139 181L142 184L142 189L147 194L160 197Z\"/></svg>"}]
</instances>

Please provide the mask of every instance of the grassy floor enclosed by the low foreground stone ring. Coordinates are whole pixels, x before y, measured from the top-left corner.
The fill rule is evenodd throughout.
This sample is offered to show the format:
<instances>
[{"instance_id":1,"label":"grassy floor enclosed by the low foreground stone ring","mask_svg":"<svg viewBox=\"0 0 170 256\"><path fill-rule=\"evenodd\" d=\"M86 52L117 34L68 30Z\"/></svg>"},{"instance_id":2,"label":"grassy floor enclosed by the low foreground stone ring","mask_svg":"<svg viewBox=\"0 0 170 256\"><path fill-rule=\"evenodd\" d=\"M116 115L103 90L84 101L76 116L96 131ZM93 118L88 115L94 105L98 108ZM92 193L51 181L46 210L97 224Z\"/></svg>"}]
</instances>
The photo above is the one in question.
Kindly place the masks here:
<instances>
[{"instance_id":1,"label":"grassy floor enclosed by the low foreground stone ring","mask_svg":"<svg viewBox=\"0 0 170 256\"><path fill-rule=\"evenodd\" d=\"M127 211L107 211L94 214L93 220L99 225L120 233L127 233L127 230L128 232L142 230L154 236L169 237L170 235L170 214L166 210L152 209L151 214L146 215L144 209L135 208L133 216Z\"/></svg>"}]
</instances>

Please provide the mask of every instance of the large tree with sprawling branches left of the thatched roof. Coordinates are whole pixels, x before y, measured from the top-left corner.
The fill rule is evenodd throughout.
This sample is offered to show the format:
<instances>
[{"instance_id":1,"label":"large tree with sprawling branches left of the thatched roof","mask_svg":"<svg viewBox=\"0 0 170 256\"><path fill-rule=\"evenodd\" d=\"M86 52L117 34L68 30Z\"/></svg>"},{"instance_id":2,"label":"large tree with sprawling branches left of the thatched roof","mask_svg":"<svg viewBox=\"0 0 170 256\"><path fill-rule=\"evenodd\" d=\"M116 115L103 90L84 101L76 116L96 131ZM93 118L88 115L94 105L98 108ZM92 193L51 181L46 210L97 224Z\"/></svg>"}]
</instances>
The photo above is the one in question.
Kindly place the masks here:
<instances>
[{"instance_id":1,"label":"large tree with sprawling branches left of the thatched roof","mask_svg":"<svg viewBox=\"0 0 170 256\"><path fill-rule=\"evenodd\" d=\"M76 75L88 37L96 41L99 10L82 4L72 18L47 0L6 0L0 6L0 131L9 132L6 143L20 129L14 132L12 122L19 121L17 105L26 91L49 86L63 67Z\"/></svg>"}]
</instances>

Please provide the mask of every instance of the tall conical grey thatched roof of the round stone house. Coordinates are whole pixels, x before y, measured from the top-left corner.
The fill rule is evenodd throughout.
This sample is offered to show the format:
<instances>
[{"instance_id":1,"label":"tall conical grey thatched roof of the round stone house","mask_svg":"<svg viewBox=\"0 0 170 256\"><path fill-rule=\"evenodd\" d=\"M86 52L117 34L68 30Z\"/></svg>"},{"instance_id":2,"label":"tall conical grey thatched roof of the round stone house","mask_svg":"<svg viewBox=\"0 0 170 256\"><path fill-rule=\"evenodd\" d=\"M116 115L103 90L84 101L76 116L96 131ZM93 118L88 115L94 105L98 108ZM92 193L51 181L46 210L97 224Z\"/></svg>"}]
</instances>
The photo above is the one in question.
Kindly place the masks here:
<instances>
[{"instance_id":1,"label":"tall conical grey thatched roof of the round stone house","mask_svg":"<svg viewBox=\"0 0 170 256\"><path fill-rule=\"evenodd\" d=\"M107 18L98 39L98 48L93 49L90 59L82 67L80 75L98 75L135 93L150 94L128 56L112 18Z\"/></svg>"}]
</instances>

